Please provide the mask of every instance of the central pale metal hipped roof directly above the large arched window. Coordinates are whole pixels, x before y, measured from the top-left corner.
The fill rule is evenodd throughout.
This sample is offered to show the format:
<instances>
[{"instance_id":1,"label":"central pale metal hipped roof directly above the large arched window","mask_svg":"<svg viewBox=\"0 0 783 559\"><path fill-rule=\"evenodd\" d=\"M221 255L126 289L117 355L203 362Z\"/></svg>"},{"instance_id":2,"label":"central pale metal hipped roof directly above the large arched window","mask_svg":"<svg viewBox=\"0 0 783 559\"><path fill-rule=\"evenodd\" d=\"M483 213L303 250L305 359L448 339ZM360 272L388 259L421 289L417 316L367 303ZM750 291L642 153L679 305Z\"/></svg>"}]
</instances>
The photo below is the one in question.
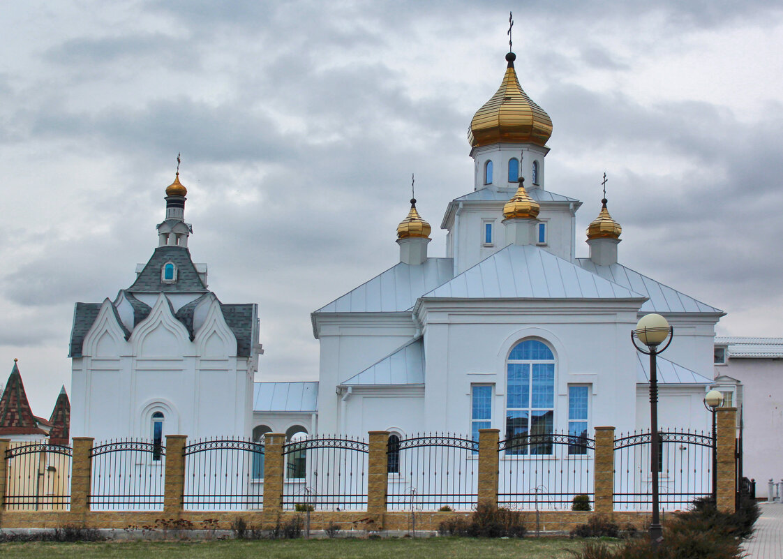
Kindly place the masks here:
<instances>
[{"instance_id":1,"label":"central pale metal hipped roof directly above the large arched window","mask_svg":"<svg viewBox=\"0 0 783 559\"><path fill-rule=\"evenodd\" d=\"M643 298L539 247L511 244L425 298Z\"/></svg>"}]
</instances>

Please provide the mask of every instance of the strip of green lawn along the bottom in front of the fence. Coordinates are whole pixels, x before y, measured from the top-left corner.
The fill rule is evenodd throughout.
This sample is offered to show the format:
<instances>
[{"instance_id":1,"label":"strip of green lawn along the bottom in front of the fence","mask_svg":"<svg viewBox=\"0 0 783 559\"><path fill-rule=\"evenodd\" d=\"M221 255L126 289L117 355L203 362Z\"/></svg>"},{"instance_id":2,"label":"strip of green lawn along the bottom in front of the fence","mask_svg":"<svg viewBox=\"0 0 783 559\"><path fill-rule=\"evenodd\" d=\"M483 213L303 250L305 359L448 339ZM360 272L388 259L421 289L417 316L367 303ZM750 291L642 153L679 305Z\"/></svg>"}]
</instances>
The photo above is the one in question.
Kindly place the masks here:
<instances>
[{"instance_id":1,"label":"strip of green lawn along the bottom in front of the fence","mask_svg":"<svg viewBox=\"0 0 783 559\"><path fill-rule=\"evenodd\" d=\"M123 559L565 559L578 541L568 539L294 539L209 542L2 543L0 557L122 557Z\"/></svg>"}]
</instances>

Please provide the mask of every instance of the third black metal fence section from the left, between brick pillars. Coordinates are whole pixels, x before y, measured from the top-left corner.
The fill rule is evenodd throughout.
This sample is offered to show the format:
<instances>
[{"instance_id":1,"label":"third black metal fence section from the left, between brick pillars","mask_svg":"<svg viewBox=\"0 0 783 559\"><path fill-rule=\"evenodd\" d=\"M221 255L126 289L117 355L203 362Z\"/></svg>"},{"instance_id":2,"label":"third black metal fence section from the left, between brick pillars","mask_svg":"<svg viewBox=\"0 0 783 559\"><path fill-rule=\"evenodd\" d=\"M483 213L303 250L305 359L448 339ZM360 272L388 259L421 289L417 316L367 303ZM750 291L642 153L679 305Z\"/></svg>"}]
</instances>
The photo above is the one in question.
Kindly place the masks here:
<instances>
[{"instance_id":1,"label":"third black metal fence section from the left, between brick pillars","mask_svg":"<svg viewBox=\"0 0 783 559\"><path fill-rule=\"evenodd\" d=\"M187 510L260 509L264 445L244 438L205 438L185 447Z\"/></svg>"}]
</instances>

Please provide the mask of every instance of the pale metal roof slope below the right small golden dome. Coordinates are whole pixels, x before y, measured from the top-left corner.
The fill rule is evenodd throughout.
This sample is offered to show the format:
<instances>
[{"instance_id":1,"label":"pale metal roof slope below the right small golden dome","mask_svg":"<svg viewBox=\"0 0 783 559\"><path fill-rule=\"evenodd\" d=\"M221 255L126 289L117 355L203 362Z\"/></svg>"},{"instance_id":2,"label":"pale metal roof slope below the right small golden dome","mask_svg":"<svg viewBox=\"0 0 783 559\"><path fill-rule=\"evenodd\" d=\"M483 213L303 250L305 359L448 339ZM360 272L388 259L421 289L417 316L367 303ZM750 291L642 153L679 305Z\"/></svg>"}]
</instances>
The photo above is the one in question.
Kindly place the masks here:
<instances>
[{"instance_id":1,"label":"pale metal roof slope below the right small golden dome","mask_svg":"<svg viewBox=\"0 0 783 559\"><path fill-rule=\"evenodd\" d=\"M590 258L577 258L577 264L604 279L618 283L623 287L634 290L648 297L648 301L639 309L640 312L717 312L723 313L720 308L697 301L680 291L673 290L663 283L642 276L622 264L597 266Z\"/></svg>"}]
</instances>

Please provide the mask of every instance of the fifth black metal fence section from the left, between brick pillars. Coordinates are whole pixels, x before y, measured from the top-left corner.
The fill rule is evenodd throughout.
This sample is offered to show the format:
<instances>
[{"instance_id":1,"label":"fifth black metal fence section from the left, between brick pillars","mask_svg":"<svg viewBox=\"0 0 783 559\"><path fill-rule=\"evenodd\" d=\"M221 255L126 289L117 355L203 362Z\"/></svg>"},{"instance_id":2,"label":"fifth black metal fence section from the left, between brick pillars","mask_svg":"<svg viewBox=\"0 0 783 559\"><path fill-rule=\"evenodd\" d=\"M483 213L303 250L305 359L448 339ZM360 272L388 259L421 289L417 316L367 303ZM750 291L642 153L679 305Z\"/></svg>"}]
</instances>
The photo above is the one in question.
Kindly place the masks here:
<instances>
[{"instance_id":1,"label":"fifth black metal fence section from the left, between brick pillars","mask_svg":"<svg viewBox=\"0 0 783 559\"><path fill-rule=\"evenodd\" d=\"M388 510L470 510L478 501L478 442L464 435L394 440L388 470Z\"/></svg>"}]
</instances>

